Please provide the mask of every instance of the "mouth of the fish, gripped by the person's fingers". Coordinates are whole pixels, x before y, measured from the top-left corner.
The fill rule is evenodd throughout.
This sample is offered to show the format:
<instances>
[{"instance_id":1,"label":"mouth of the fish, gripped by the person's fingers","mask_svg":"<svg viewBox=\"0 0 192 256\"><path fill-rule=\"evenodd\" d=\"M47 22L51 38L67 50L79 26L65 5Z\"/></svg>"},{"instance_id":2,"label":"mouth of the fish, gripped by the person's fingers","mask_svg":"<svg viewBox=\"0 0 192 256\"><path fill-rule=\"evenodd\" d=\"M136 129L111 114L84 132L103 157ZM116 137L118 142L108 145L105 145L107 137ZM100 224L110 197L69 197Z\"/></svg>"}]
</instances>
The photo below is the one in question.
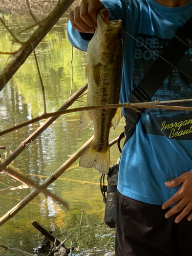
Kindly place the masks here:
<instances>
[{"instance_id":1,"label":"mouth of the fish, gripped by the person's fingers","mask_svg":"<svg viewBox=\"0 0 192 256\"><path fill-rule=\"evenodd\" d=\"M101 17L101 13L98 12L97 25L98 25L98 27L103 27L105 31L112 32L112 31L118 29L119 27L122 27L122 20L121 19L108 20L105 22ZM101 25L101 26L99 26L99 25Z\"/></svg>"}]
</instances>

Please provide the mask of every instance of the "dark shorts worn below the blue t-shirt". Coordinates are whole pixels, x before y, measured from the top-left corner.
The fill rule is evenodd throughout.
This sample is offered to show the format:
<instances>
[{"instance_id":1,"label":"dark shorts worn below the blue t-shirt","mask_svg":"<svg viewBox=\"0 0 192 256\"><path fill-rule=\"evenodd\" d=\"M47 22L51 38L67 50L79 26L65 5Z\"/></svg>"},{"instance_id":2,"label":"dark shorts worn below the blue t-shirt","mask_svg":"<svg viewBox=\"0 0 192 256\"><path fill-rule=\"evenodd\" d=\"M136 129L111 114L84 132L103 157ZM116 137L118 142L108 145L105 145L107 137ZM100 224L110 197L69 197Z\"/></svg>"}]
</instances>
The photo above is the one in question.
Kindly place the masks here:
<instances>
[{"instance_id":1,"label":"dark shorts worn below the blue t-shirt","mask_svg":"<svg viewBox=\"0 0 192 256\"><path fill-rule=\"evenodd\" d=\"M117 193L116 256L191 256L192 221L165 219L161 205Z\"/></svg>"}]
</instances>

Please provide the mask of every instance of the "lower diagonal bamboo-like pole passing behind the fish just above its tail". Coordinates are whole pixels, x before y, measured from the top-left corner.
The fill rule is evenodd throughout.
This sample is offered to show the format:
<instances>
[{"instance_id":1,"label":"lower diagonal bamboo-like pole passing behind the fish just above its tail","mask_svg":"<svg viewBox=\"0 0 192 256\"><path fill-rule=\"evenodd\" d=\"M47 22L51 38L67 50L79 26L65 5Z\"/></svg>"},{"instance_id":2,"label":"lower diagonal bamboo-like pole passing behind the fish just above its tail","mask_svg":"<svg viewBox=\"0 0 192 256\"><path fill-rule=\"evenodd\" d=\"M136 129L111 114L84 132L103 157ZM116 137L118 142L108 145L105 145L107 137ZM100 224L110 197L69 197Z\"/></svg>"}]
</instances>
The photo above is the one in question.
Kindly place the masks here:
<instances>
[{"instance_id":1,"label":"lower diagonal bamboo-like pole passing behind the fish just above its tail","mask_svg":"<svg viewBox=\"0 0 192 256\"><path fill-rule=\"evenodd\" d=\"M63 174L67 168L69 168L83 153L84 150L86 150L86 147L91 143L93 140L92 136L86 143L84 143L78 151L73 154L72 157L70 157L65 163L63 163L47 180L45 180L39 187L41 188L47 188L53 181L55 181L61 174ZM114 139L112 142L110 142L110 146L114 145L115 142L118 141L118 137ZM30 203L38 194L40 193L39 190L35 189L33 190L26 198L24 198L21 202L19 202L17 205L15 205L11 210L7 212L1 219L0 219L0 227L6 223L8 220L13 218L17 212L19 212L21 209L23 209L28 203Z\"/></svg>"}]
</instances>

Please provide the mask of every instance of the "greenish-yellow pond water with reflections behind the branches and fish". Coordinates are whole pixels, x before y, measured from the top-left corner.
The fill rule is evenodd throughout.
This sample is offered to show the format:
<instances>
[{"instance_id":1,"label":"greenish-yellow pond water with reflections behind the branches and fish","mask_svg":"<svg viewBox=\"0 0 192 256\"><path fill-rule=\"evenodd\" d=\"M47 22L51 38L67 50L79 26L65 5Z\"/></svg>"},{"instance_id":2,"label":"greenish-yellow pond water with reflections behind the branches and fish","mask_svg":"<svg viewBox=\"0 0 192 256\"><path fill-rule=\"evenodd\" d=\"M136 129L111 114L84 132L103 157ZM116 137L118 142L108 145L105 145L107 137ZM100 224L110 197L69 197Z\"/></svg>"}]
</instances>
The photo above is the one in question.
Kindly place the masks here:
<instances>
[{"instance_id":1,"label":"greenish-yellow pond water with reflections behind the branches and fish","mask_svg":"<svg viewBox=\"0 0 192 256\"><path fill-rule=\"evenodd\" d=\"M66 31L68 14L69 11L61 17L36 48L39 69L45 86L48 112L60 108L70 94L72 46L69 44ZM27 13L20 15L0 13L0 16L15 35L34 23ZM18 35L18 38L25 41L34 30L35 28L27 30ZM20 47L16 43L12 44L12 37L3 24L0 24L0 37L0 52L15 51ZM6 66L7 60L8 55L0 55L1 71ZM73 49L72 94L85 82L86 61L86 53ZM83 96L72 107L76 108L85 104L86 96ZM0 131L44 112L41 86L33 54L0 93L0 106ZM34 182L45 181L93 135L92 125L84 130L80 128L79 117L80 112L59 117L12 164ZM0 137L0 146L6 145L6 150L0 150L2 158L9 156L43 122L36 122ZM123 131L123 126L124 121L121 119L117 129L111 130L110 141L119 136ZM111 165L115 164L119 157L117 145L114 145L111 147ZM0 178L0 216L3 216L30 194L32 189L14 189L22 184L5 174L0 174ZM71 241L79 237L81 209L84 209L81 236L89 235L84 238L80 248L84 248L91 234L93 237L90 240L94 242L88 244L89 248L105 245L110 238L112 238L111 242L114 241L115 230L110 229L103 222L104 204L100 193L100 174L94 168L79 167L76 161L69 170L49 186L49 189L69 202L70 210L66 210L51 198L40 194L0 228L0 244L34 253L34 248L42 239L39 231L31 225L33 221L37 221L46 229L52 230L55 237L63 234L61 241L76 229L73 240L70 238L66 243L70 246ZM77 245L78 243L75 244ZM106 248L113 250L114 244L101 248L92 255L104 255ZM18 253L3 251L0 248L0 255L18 255Z\"/></svg>"}]
</instances>

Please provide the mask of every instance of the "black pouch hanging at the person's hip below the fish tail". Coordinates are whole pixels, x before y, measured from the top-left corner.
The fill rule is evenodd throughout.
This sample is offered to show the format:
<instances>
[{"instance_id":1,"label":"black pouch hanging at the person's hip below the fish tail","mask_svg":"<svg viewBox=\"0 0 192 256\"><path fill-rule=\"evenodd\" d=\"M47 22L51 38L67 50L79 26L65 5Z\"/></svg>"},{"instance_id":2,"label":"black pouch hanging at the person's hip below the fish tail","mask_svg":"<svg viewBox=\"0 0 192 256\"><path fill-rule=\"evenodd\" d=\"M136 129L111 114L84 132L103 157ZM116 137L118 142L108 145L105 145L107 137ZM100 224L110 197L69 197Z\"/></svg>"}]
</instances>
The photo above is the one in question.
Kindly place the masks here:
<instances>
[{"instance_id":1,"label":"black pouch hanging at the person's hip below the fish tail","mask_svg":"<svg viewBox=\"0 0 192 256\"><path fill-rule=\"evenodd\" d=\"M115 164L109 169L108 186L104 185L104 176L101 176L101 193L103 203L106 203L104 212L104 222L109 227L115 227L116 222L116 201L117 201L117 182L118 182L119 164ZM103 181L103 185L102 185ZM106 193L106 197L105 197Z\"/></svg>"}]
</instances>

